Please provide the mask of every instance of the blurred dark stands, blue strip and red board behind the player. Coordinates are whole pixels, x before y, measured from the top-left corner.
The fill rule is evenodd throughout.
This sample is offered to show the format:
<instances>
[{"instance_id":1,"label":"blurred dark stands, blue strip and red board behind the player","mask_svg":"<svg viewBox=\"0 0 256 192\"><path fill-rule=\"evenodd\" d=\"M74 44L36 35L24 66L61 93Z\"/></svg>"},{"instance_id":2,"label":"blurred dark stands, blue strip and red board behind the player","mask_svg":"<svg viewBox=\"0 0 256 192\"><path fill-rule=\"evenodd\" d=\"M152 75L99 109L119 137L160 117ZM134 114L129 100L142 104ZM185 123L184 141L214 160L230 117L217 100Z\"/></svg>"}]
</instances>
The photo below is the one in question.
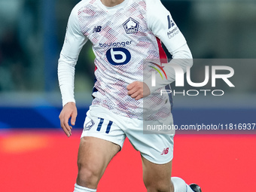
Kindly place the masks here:
<instances>
[{"instance_id":1,"label":"blurred dark stands, blue strip and red board behind the player","mask_svg":"<svg viewBox=\"0 0 256 192\"><path fill-rule=\"evenodd\" d=\"M62 103L56 67L69 13L78 2L0 2L1 191L73 190L79 137L92 99L90 44L84 46L76 67L78 118L69 139L59 126ZM162 2L194 58L221 59L235 70L230 78L235 88L218 84L224 96L174 96L175 124L256 123L256 2ZM195 64L191 72L200 81L204 64ZM178 131L172 175L197 182L207 192L254 190L255 130ZM139 153L127 140L98 191L145 191Z\"/></svg>"}]
</instances>

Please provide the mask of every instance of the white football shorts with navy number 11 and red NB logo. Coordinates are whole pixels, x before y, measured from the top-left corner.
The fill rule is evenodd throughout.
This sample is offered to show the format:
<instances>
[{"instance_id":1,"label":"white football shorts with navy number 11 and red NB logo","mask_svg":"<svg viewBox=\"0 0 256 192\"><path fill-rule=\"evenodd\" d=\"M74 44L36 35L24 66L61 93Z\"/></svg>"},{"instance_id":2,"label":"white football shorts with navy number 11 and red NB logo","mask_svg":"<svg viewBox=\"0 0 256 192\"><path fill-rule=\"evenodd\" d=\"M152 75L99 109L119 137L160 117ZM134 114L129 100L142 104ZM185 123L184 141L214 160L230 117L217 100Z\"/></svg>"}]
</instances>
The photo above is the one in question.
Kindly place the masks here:
<instances>
[{"instance_id":1,"label":"white football shorts with navy number 11 and red NB logo","mask_svg":"<svg viewBox=\"0 0 256 192\"><path fill-rule=\"evenodd\" d=\"M91 105L87 111L81 138L84 136L104 139L121 148L127 137L142 157L152 163L168 163L173 157L174 134L145 134L143 120L114 114L99 105Z\"/></svg>"}]
</instances>

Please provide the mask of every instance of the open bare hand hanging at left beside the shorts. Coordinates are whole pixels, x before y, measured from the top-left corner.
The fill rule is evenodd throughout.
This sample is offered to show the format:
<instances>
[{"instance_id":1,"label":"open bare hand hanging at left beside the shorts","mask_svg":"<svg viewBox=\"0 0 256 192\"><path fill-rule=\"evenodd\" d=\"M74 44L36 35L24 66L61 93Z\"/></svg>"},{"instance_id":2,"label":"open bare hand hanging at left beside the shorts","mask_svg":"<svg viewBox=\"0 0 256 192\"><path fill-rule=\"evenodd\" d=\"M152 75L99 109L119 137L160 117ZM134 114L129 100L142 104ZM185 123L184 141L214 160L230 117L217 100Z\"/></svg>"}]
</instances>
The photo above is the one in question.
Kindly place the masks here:
<instances>
[{"instance_id":1,"label":"open bare hand hanging at left beside the shorts","mask_svg":"<svg viewBox=\"0 0 256 192\"><path fill-rule=\"evenodd\" d=\"M64 105L62 111L59 114L60 126L68 137L72 135L72 126L69 125L69 118L71 117L70 121L74 126L77 115L78 110L75 106L75 102L68 102L66 105Z\"/></svg>"}]
</instances>

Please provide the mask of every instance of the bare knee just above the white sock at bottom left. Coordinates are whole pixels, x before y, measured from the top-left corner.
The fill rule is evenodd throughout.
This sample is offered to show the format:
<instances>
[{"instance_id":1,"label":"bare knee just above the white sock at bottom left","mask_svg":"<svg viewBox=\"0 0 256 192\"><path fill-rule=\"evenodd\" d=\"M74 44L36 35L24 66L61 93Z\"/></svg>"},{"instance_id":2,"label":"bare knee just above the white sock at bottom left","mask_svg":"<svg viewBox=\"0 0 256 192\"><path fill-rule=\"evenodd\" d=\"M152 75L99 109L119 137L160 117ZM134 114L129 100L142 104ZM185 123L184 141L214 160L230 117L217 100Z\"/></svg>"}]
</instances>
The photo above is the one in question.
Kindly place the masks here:
<instances>
[{"instance_id":1,"label":"bare knee just above the white sock at bottom left","mask_svg":"<svg viewBox=\"0 0 256 192\"><path fill-rule=\"evenodd\" d=\"M84 187L95 188L99 183L99 174L90 166L78 162L77 183Z\"/></svg>"}]
</instances>

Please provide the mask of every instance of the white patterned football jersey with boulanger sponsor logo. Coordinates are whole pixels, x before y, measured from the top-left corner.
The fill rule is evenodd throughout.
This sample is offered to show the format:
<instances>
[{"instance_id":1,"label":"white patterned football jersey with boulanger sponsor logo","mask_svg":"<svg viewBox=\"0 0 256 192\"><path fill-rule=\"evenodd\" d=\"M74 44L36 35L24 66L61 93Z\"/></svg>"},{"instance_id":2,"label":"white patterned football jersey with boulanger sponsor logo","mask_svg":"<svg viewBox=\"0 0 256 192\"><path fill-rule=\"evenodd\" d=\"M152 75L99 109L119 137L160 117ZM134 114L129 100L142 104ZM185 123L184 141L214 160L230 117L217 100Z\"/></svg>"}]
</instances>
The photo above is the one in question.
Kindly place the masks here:
<instances>
[{"instance_id":1,"label":"white patterned football jersey with boulanger sponsor logo","mask_svg":"<svg viewBox=\"0 0 256 192\"><path fill-rule=\"evenodd\" d=\"M101 105L126 117L143 118L143 101L151 108L149 119L168 117L169 96L152 93L144 99L133 99L127 85L143 81L145 59L160 60L165 56L161 41L170 53L186 41L160 0L124 0L120 5L105 7L100 0L83 0L69 17L59 65L75 66L81 48L87 41L95 53L96 82L92 105ZM64 63L64 64L63 64ZM74 101L72 77L59 67L59 86L63 104ZM74 73L74 72L72 72ZM149 75L151 73L148 73ZM69 84L69 85L68 85ZM66 86L66 87L65 87ZM167 104L166 104L167 103Z\"/></svg>"}]
</instances>

